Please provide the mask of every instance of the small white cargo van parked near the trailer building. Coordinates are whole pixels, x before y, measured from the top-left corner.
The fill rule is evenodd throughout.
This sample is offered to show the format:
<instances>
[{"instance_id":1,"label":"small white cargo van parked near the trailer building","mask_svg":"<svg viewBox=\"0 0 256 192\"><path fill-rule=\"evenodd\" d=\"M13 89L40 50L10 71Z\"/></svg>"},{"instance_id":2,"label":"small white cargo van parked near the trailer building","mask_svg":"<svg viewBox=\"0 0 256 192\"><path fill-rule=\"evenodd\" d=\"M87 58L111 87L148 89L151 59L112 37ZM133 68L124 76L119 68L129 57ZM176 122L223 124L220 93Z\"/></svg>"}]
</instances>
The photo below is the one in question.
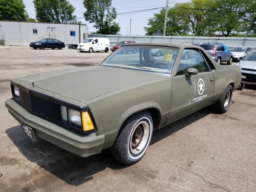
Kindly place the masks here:
<instances>
[{"instance_id":1,"label":"small white cargo van parked near the trailer building","mask_svg":"<svg viewBox=\"0 0 256 192\"><path fill-rule=\"evenodd\" d=\"M82 43L78 44L77 50L89 53L95 51L108 52L110 50L110 42L108 38L87 38Z\"/></svg>"}]
</instances>

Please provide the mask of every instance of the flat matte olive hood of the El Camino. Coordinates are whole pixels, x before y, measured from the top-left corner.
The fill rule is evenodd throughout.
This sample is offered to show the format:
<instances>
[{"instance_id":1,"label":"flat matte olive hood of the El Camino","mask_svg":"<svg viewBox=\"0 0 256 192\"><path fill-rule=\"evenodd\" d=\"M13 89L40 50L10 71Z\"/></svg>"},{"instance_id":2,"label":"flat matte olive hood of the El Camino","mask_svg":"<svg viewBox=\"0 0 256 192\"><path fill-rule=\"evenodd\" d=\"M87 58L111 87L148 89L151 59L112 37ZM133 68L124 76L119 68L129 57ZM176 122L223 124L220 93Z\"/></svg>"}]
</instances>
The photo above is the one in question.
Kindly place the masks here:
<instances>
[{"instance_id":1,"label":"flat matte olive hood of the El Camino","mask_svg":"<svg viewBox=\"0 0 256 192\"><path fill-rule=\"evenodd\" d=\"M19 78L38 88L86 102L92 98L166 75L108 66L55 70Z\"/></svg>"}]
</instances>

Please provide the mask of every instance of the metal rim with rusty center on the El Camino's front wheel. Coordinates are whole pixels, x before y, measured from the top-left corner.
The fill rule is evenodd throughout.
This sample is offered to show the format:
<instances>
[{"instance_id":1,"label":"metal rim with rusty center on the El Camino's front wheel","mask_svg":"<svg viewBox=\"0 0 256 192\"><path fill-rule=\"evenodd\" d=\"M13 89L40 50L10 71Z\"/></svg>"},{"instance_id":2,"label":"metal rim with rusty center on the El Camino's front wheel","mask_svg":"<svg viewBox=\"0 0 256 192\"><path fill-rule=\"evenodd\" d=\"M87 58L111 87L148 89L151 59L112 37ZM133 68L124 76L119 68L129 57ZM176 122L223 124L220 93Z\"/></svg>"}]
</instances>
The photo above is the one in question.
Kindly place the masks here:
<instances>
[{"instance_id":1,"label":"metal rim with rusty center on the El Camino's front wheel","mask_svg":"<svg viewBox=\"0 0 256 192\"><path fill-rule=\"evenodd\" d=\"M130 151L136 155L143 151L149 137L149 126L146 121L139 122L132 130L130 138Z\"/></svg>"}]
</instances>

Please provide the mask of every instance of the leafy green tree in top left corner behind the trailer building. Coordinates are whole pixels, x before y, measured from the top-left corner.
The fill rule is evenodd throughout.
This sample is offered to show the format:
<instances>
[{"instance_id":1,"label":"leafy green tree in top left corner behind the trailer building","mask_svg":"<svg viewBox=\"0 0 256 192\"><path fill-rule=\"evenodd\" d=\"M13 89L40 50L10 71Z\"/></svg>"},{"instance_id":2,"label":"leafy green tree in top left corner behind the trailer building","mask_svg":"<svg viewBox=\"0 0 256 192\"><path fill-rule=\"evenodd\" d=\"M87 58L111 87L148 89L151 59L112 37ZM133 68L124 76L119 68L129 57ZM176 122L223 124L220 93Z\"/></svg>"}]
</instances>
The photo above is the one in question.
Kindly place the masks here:
<instances>
[{"instance_id":1,"label":"leafy green tree in top left corner behind the trailer building","mask_svg":"<svg viewBox=\"0 0 256 192\"><path fill-rule=\"evenodd\" d=\"M25 8L22 0L0 0L0 20L26 21Z\"/></svg>"}]
</instances>

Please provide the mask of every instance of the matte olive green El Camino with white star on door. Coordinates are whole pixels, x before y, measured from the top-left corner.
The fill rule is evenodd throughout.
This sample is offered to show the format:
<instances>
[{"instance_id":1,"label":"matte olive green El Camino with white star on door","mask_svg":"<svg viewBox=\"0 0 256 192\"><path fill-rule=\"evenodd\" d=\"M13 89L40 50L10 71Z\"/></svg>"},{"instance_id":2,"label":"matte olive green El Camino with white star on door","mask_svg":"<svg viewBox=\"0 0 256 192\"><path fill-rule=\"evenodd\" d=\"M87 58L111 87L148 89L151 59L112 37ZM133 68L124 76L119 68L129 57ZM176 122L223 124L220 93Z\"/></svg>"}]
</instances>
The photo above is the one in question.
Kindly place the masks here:
<instances>
[{"instance_id":1,"label":"matte olive green El Camino with white star on door","mask_svg":"<svg viewBox=\"0 0 256 192\"><path fill-rule=\"evenodd\" d=\"M116 160L133 164L153 130L211 104L226 112L240 82L238 66L217 64L201 47L126 44L99 66L12 80L6 108L34 142L39 137L82 157L111 148Z\"/></svg>"}]
</instances>

